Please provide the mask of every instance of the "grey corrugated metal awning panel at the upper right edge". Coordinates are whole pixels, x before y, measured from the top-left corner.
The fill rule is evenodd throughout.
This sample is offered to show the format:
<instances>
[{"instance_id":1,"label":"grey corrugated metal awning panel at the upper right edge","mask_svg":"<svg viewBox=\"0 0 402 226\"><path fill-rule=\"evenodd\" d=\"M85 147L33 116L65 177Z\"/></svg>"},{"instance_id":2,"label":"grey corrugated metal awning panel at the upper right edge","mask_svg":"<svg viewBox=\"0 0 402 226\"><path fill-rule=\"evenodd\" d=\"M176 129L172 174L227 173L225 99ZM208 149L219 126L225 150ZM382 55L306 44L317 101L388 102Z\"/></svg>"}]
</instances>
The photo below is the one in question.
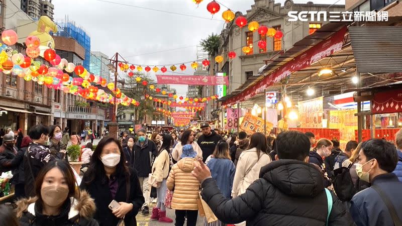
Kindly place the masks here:
<instances>
[{"instance_id":1,"label":"grey corrugated metal awning panel at the upper right edge","mask_svg":"<svg viewBox=\"0 0 402 226\"><path fill-rule=\"evenodd\" d=\"M349 34L359 72L402 72L402 27L350 27Z\"/></svg>"}]
</instances>

